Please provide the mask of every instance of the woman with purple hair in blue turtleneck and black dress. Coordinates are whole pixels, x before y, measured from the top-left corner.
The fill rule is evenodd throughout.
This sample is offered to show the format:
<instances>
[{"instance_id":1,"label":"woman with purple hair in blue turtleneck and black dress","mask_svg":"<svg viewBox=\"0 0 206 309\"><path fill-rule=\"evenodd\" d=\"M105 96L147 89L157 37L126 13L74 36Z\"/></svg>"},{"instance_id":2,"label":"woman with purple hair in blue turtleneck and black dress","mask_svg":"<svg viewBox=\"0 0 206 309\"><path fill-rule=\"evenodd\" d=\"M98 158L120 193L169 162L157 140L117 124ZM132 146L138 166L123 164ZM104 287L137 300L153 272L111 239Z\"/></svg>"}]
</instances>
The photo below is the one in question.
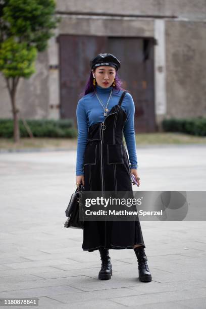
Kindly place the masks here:
<instances>
[{"instance_id":1,"label":"woman with purple hair in blue turtleneck and black dress","mask_svg":"<svg viewBox=\"0 0 206 309\"><path fill-rule=\"evenodd\" d=\"M77 105L76 184L85 191L131 191L131 174L137 180L134 101L121 88L120 61L112 54L98 54L90 61L91 73L84 96ZM123 133L129 160L123 143ZM111 279L109 249L134 249L139 280L151 281L144 241L137 221L85 221L83 250L99 250L99 279Z\"/></svg>"}]
</instances>

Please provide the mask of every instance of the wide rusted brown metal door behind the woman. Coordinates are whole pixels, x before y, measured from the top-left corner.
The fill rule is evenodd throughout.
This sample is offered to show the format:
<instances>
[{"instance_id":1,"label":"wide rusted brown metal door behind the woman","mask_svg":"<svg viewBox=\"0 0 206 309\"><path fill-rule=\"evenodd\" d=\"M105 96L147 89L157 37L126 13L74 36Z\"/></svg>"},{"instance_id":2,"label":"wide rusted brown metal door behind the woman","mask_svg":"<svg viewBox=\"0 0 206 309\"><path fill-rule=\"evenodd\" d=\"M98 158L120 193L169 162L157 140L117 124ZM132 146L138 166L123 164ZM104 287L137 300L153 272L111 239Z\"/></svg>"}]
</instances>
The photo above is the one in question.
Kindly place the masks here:
<instances>
[{"instance_id":1,"label":"wide rusted brown metal door behind the woman","mask_svg":"<svg viewBox=\"0 0 206 309\"><path fill-rule=\"evenodd\" d=\"M89 77L89 61L99 53L111 53L120 59L118 73L134 99L135 132L154 132L152 42L152 38L60 35L61 118L73 118L76 123L76 106Z\"/></svg>"}]
</instances>

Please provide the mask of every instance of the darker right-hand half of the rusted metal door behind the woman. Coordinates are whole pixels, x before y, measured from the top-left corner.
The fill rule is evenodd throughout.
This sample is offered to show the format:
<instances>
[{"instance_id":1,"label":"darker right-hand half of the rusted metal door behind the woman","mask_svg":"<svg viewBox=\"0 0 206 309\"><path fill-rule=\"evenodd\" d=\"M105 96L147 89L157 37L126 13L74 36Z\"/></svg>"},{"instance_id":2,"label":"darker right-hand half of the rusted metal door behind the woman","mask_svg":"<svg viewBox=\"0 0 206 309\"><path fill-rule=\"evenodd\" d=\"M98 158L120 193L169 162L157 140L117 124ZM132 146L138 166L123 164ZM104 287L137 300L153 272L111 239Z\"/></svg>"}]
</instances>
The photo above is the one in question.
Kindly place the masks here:
<instances>
[{"instance_id":1,"label":"darker right-hand half of the rusted metal door behind the woman","mask_svg":"<svg viewBox=\"0 0 206 309\"><path fill-rule=\"evenodd\" d=\"M135 132L155 131L152 39L111 37L108 50L121 60L119 75L135 104Z\"/></svg>"}]
</instances>

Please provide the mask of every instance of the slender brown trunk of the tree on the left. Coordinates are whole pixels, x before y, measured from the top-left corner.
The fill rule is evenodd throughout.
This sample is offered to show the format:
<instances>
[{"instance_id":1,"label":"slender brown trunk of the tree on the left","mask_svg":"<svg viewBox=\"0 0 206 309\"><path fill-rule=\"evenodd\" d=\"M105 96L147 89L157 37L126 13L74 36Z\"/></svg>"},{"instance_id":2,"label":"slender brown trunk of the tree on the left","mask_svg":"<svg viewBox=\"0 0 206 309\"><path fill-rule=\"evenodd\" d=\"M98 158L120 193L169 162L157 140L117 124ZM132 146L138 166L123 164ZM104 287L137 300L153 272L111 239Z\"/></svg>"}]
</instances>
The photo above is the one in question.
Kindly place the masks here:
<instances>
[{"instance_id":1,"label":"slender brown trunk of the tree on the left","mask_svg":"<svg viewBox=\"0 0 206 309\"><path fill-rule=\"evenodd\" d=\"M7 78L7 87L9 90L11 103L12 103L12 114L14 121L14 141L17 143L20 140L20 130L19 130L19 110L16 107L16 90L19 78L12 78L12 84L10 85L9 79Z\"/></svg>"}]
</instances>

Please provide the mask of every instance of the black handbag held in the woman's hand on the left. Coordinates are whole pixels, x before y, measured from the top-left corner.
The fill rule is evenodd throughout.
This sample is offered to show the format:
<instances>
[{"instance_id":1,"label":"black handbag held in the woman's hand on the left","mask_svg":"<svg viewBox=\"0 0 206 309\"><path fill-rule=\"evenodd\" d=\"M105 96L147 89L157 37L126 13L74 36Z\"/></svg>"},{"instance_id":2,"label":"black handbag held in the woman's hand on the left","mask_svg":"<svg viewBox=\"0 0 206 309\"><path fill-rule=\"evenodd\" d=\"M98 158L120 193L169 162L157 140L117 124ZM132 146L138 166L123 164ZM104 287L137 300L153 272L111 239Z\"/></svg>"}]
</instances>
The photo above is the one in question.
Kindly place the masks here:
<instances>
[{"instance_id":1,"label":"black handbag held in the woman's hand on the left","mask_svg":"<svg viewBox=\"0 0 206 309\"><path fill-rule=\"evenodd\" d=\"M64 224L64 227L66 228L84 228L84 222L79 220L79 212L82 211L81 201L83 191L84 187L81 184L79 187L77 187L76 191L72 193L69 205L65 211L66 217L68 217L67 221Z\"/></svg>"}]
</instances>

